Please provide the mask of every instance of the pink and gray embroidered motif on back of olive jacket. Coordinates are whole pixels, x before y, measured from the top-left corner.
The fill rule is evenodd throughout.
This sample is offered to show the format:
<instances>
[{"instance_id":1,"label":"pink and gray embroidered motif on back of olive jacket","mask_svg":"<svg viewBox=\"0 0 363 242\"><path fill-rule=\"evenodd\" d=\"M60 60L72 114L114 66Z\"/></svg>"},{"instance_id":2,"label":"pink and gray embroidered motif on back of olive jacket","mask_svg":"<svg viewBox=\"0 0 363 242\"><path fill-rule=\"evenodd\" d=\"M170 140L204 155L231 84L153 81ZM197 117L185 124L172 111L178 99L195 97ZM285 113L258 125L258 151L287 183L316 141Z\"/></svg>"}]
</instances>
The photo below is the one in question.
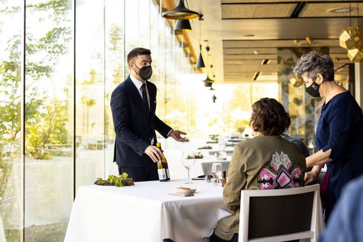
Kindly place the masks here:
<instances>
[{"instance_id":1,"label":"pink and gray embroidered motif on back of olive jacket","mask_svg":"<svg viewBox=\"0 0 363 242\"><path fill-rule=\"evenodd\" d=\"M292 165L287 154L276 151L271 161L260 170L257 183L260 190L298 188L301 174L301 169Z\"/></svg>"}]
</instances>

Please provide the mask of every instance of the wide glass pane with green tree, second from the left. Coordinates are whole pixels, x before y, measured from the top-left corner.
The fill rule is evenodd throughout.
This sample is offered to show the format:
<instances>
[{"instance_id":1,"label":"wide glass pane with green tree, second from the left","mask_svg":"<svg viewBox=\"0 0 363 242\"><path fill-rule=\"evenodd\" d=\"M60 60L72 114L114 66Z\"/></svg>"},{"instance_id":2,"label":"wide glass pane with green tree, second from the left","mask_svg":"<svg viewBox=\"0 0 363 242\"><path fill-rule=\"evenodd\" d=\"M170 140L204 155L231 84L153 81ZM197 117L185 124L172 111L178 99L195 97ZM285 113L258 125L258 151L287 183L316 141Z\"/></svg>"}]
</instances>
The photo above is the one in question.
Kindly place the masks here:
<instances>
[{"instance_id":1,"label":"wide glass pane with green tree, second from the left","mask_svg":"<svg viewBox=\"0 0 363 242\"><path fill-rule=\"evenodd\" d=\"M73 1L27 1L25 240L63 241L73 204Z\"/></svg>"}]
</instances>

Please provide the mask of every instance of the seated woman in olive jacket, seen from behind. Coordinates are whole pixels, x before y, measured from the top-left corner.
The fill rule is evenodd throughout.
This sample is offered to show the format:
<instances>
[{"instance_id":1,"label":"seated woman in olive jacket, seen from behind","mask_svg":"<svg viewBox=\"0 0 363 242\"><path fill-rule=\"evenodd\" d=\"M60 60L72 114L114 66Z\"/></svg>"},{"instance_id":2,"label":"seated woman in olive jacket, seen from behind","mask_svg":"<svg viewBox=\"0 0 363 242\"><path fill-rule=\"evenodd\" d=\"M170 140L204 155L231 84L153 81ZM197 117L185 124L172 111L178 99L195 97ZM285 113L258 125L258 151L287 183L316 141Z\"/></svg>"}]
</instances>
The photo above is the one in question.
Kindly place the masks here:
<instances>
[{"instance_id":1,"label":"seated woman in olive jacket, seen from behind","mask_svg":"<svg viewBox=\"0 0 363 242\"><path fill-rule=\"evenodd\" d=\"M305 158L299 148L281 135L290 116L273 98L252 104L253 139L234 147L223 189L224 203L233 215L221 219L211 241L237 241L241 190L285 189L304 186Z\"/></svg>"}]
</instances>

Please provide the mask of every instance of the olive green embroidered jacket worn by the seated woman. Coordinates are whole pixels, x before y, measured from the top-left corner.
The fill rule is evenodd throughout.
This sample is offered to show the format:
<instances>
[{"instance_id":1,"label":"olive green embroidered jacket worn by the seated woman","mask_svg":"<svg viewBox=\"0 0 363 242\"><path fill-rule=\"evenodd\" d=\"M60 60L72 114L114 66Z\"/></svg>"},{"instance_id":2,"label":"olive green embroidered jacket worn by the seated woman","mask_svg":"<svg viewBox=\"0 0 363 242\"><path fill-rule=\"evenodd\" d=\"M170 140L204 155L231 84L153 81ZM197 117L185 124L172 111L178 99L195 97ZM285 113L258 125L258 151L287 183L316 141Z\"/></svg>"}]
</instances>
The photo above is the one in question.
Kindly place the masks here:
<instances>
[{"instance_id":1,"label":"olive green embroidered jacket worn by the seated woman","mask_svg":"<svg viewBox=\"0 0 363 242\"><path fill-rule=\"evenodd\" d=\"M238 233L241 190L304 186L306 161L299 148L280 136L257 136L238 143L228 168L223 199L234 215L221 219L215 234L230 240Z\"/></svg>"}]
</instances>

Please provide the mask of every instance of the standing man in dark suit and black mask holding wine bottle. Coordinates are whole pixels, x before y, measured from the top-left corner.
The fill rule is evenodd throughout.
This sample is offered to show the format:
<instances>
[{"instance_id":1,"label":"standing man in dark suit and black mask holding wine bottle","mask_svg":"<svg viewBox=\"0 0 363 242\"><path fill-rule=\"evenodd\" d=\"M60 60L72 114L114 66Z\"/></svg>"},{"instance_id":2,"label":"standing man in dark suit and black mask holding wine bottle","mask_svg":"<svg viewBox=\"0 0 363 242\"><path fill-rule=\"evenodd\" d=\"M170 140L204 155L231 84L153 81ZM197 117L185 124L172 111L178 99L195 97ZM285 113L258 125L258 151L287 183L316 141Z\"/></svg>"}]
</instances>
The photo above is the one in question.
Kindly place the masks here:
<instances>
[{"instance_id":1,"label":"standing man in dark suit and black mask holding wine bottle","mask_svg":"<svg viewBox=\"0 0 363 242\"><path fill-rule=\"evenodd\" d=\"M113 162L118 172L126 172L134 181L158 180L156 162L162 151L155 146L157 130L164 138L189 140L156 115L156 86L147 81L152 75L151 52L134 48L127 57L131 75L111 95L111 110L116 133Z\"/></svg>"}]
</instances>

